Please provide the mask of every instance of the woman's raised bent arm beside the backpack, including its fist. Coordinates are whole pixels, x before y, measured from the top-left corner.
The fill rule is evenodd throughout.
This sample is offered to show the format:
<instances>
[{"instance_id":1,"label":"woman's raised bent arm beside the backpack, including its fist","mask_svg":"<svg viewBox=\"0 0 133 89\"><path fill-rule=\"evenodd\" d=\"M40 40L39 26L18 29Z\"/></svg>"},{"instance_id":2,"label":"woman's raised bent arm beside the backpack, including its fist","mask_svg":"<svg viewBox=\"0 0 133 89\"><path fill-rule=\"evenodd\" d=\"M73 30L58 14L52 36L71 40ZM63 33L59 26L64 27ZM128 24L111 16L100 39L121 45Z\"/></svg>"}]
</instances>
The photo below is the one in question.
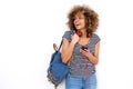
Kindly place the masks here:
<instances>
[{"instance_id":1,"label":"woman's raised bent arm beside the backpack, including its fist","mask_svg":"<svg viewBox=\"0 0 133 89\"><path fill-rule=\"evenodd\" d=\"M79 36L78 34L72 36L72 41L71 42L69 42L65 38L63 38L61 57L62 57L62 61L64 63L68 63L68 61L71 59L72 53L73 53L74 44L78 41L79 41Z\"/></svg>"}]
</instances>

